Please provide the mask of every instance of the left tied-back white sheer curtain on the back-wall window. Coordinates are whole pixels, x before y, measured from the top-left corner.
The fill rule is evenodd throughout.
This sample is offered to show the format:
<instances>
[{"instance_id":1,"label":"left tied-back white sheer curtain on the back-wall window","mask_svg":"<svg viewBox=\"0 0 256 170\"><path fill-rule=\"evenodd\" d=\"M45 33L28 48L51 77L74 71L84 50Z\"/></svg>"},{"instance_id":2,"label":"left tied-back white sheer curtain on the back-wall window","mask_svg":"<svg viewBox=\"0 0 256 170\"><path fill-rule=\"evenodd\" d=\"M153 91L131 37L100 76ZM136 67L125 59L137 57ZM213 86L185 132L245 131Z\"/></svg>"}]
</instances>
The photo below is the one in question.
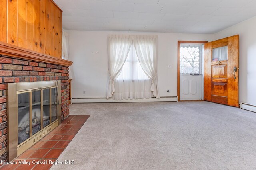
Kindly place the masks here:
<instances>
[{"instance_id":1,"label":"left tied-back white sheer curtain on the back-wall window","mask_svg":"<svg viewBox=\"0 0 256 170\"><path fill-rule=\"evenodd\" d=\"M106 98L115 92L114 80L118 78L132 45L130 35L108 35L108 83Z\"/></svg>"}]
</instances>

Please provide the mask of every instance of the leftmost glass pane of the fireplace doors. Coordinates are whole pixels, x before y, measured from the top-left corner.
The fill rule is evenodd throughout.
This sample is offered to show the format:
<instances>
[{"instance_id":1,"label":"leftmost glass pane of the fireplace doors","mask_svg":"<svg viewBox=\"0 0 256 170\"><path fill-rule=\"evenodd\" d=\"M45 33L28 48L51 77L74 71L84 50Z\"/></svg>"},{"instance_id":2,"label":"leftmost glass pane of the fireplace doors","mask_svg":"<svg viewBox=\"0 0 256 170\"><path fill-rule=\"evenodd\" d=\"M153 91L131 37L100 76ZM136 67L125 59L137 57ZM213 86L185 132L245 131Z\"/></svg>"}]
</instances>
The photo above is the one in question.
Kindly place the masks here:
<instances>
[{"instance_id":1,"label":"leftmost glass pane of the fireplace doors","mask_svg":"<svg viewBox=\"0 0 256 170\"><path fill-rule=\"evenodd\" d=\"M29 92L18 94L18 144L29 138Z\"/></svg>"}]
</instances>

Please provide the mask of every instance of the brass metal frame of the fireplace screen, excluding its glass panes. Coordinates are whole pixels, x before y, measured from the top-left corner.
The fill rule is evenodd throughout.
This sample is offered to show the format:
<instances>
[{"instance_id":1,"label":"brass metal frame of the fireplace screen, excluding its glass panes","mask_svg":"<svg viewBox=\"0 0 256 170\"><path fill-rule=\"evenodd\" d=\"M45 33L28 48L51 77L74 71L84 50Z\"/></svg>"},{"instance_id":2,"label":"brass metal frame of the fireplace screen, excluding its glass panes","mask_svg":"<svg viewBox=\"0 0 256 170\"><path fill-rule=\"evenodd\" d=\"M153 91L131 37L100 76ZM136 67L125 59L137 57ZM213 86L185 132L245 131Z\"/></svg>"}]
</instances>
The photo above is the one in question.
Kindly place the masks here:
<instances>
[{"instance_id":1,"label":"brass metal frame of the fireplace screen, excluding its glass panes","mask_svg":"<svg viewBox=\"0 0 256 170\"><path fill-rule=\"evenodd\" d=\"M24 83L9 83L7 87L7 108L8 108L8 159L13 160L27 149L32 147L44 135L52 131L61 123L61 86L60 80L42 81L42 82L24 82ZM43 95L44 89L57 88L57 119L51 122L51 91L50 90L50 123L46 127L42 126L43 121ZM32 135L32 92L41 90L41 129ZM18 144L18 94L29 92L29 121L30 121L30 137L26 141Z\"/></svg>"}]
</instances>

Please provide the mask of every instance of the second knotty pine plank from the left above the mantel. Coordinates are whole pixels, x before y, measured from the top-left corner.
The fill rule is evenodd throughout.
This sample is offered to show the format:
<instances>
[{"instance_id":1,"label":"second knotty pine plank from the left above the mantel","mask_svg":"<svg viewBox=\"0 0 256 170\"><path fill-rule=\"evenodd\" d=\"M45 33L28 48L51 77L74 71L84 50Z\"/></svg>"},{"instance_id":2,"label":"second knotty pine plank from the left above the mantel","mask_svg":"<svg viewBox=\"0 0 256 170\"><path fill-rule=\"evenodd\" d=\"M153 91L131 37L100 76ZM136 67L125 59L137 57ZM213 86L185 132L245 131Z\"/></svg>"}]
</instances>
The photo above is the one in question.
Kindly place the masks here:
<instances>
[{"instance_id":1,"label":"second knotty pine plank from the left above the mantel","mask_svg":"<svg viewBox=\"0 0 256 170\"><path fill-rule=\"evenodd\" d=\"M18 39L18 1L17 0L8 0L8 32L7 32L7 43L12 45L17 45Z\"/></svg>"}]
</instances>

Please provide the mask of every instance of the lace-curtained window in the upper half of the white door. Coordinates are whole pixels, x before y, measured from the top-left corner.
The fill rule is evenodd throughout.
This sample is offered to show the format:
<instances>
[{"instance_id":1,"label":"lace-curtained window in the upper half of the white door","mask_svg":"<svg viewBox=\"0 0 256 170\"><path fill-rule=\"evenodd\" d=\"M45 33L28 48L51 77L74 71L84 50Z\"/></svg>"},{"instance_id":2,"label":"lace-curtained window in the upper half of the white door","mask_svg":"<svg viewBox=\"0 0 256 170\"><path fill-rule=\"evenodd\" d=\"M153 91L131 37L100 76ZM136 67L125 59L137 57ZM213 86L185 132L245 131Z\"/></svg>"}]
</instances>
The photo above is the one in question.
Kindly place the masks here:
<instances>
[{"instance_id":1,"label":"lace-curtained window in the upper half of the white door","mask_svg":"<svg viewBox=\"0 0 256 170\"><path fill-rule=\"evenodd\" d=\"M203 45L180 45L180 74L202 74Z\"/></svg>"}]
</instances>

